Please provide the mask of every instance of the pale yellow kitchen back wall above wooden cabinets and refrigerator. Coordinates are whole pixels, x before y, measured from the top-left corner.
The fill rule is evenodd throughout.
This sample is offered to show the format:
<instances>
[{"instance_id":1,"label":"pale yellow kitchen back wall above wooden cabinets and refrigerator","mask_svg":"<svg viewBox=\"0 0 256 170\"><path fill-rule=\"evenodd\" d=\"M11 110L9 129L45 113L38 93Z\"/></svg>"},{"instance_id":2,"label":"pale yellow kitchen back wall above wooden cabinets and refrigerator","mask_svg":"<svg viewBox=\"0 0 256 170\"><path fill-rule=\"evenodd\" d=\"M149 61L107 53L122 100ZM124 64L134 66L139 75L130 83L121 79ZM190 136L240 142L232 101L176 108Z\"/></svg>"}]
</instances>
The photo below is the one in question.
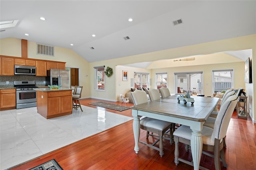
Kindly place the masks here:
<instances>
[{"instance_id":1,"label":"pale yellow kitchen back wall above wooden cabinets and refrigerator","mask_svg":"<svg viewBox=\"0 0 256 170\"><path fill-rule=\"evenodd\" d=\"M0 41L0 55L21 57L21 39L6 38ZM28 58L66 62L66 67L79 68L80 86L83 86L82 98L90 96L89 63L71 49L55 47L55 56L36 55L36 43L28 41Z\"/></svg>"}]
</instances>

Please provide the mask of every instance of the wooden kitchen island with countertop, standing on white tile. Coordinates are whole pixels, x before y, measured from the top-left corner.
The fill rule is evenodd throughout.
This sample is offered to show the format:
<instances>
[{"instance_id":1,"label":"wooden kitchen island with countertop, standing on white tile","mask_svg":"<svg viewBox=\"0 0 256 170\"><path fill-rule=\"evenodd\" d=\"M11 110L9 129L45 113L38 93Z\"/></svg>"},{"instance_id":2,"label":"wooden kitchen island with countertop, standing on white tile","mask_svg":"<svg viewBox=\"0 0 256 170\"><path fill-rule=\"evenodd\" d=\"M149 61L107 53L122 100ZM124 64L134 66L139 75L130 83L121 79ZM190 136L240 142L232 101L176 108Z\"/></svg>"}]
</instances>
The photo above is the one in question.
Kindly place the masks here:
<instances>
[{"instance_id":1,"label":"wooden kitchen island with countertop, standing on white tile","mask_svg":"<svg viewBox=\"0 0 256 170\"><path fill-rule=\"evenodd\" d=\"M34 88L37 90L37 113L50 119L72 114L71 88Z\"/></svg>"}]
</instances>

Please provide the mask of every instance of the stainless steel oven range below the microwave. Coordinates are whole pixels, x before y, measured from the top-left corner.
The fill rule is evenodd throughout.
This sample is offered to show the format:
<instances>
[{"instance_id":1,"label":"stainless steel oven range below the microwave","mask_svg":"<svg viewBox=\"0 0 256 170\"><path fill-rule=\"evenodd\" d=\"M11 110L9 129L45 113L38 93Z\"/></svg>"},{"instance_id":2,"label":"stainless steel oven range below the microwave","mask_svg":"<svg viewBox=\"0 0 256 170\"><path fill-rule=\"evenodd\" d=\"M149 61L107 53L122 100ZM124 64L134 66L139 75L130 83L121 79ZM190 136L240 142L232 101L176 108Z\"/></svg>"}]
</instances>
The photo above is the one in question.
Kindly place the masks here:
<instances>
[{"instance_id":1,"label":"stainless steel oven range below the microwave","mask_svg":"<svg viewBox=\"0 0 256 170\"><path fill-rule=\"evenodd\" d=\"M16 87L16 109L35 107L36 90L35 81L14 81Z\"/></svg>"}]
</instances>

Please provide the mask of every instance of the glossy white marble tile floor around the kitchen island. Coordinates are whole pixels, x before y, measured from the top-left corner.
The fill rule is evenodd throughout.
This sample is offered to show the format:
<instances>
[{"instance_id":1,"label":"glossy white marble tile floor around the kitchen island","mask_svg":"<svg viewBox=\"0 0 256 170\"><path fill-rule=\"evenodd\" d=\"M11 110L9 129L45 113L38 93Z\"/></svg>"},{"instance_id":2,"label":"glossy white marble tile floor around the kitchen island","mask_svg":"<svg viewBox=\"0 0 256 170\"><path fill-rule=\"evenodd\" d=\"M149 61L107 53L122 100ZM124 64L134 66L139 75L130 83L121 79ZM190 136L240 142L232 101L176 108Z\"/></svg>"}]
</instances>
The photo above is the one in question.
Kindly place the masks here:
<instances>
[{"instance_id":1,"label":"glossy white marble tile floor around the kitchen island","mask_svg":"<svg viewBox=\"0 0 256 170\"><path fill-rule=\"evenodd\" d=\"M0 170L10 168L132 119L82 106L45 119L36 107L0 111Z\"/></svg>"}]
</instances>

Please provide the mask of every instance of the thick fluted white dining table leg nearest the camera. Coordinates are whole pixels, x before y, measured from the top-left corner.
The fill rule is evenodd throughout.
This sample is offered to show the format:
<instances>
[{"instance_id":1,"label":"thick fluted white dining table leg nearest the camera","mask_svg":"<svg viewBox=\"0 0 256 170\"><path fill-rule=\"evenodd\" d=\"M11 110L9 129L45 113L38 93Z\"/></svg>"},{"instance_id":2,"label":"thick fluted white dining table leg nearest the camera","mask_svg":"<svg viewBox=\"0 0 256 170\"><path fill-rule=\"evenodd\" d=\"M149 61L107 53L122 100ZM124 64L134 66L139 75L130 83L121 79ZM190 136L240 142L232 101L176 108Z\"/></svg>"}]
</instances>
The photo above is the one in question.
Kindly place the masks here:
<instances>
[{"instance_id":1,"label":"thick fluted white dining table leg nearest the camera","mask_svg":"<svg viewBox=\"0 0 256 170\"><path fill-rule=\"evenodd\" d=\"M191 152L194 164L194 170L199 169L201 155L202 155L202 134L201 131L192 130L191 135Z\"/></svg>"}]
</instances>

